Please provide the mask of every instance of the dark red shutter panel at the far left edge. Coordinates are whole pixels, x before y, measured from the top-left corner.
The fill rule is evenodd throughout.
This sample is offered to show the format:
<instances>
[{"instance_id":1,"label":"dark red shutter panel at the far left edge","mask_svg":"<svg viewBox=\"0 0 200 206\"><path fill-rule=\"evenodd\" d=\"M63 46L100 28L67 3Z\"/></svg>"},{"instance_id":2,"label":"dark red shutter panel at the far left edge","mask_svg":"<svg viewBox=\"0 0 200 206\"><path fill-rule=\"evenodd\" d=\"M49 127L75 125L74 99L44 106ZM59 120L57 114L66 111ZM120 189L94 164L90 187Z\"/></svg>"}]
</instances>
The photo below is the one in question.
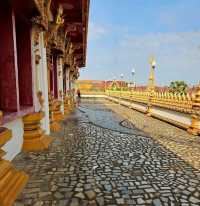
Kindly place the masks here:
<instances>
[{"instance_id":1,"label":"dark red shutter panel at the far left edge","mask_svg":"<svg viewBox=\"0 0 200 206\"><path fill-rule=\"evenodd\" d=\"M15 27L11 7L5 2L0 4L0 110L18 110L18 91L16 79L16 48L13 33Z\"/></svg>"}]
</instances>

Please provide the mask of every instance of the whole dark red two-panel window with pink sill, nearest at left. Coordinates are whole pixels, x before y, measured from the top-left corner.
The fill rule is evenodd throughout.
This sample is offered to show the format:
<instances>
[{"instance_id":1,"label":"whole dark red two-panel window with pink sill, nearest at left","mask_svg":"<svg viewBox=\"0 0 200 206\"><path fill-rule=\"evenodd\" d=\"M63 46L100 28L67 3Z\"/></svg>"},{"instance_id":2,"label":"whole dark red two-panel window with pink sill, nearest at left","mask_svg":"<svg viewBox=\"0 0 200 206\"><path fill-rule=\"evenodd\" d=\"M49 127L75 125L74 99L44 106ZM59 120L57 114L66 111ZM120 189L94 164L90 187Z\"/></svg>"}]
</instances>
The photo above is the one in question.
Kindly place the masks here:
<instances>
[{"instance_id":1,"label":"whole dark red two-panel window with pink sill, nearest at left","mask_svg":"<svg viewBox=\"0 0 200 206\"><path fill-rule=\"evenodd\" d=\"M33 110L30 27L0 4L0 110L14 118Z\"/></svg>"}]
</instances>

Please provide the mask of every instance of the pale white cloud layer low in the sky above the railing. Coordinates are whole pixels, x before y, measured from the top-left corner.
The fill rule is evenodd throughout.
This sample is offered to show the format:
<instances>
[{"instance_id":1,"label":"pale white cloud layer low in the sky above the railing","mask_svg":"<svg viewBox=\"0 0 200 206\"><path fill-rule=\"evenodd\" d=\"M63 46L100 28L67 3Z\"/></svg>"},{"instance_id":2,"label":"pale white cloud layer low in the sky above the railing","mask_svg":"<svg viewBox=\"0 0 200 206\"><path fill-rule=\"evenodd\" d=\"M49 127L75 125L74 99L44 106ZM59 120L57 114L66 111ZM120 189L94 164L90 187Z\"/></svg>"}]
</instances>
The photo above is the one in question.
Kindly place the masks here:
<instances>
[{"instance_id":1,"label":"pale white cloud layer low in the sky above the railing","mask_svg":"<svg viewBox=\"0 0 200 206\"><path fill-rule=\"evenodd\" d=\"M123 72L125 78L130 80L131 70L135 67L137 82L146 84L148 58L154 55L157 60L157 84L169 84L172 80L185 80L194 84L200 80L200 31L146 34L129 38L121 36L111 48L106 48L106 45L96 46L90 51L89 70L84 72L82 78L108 79Z\"/></svg>"}]
</instances>

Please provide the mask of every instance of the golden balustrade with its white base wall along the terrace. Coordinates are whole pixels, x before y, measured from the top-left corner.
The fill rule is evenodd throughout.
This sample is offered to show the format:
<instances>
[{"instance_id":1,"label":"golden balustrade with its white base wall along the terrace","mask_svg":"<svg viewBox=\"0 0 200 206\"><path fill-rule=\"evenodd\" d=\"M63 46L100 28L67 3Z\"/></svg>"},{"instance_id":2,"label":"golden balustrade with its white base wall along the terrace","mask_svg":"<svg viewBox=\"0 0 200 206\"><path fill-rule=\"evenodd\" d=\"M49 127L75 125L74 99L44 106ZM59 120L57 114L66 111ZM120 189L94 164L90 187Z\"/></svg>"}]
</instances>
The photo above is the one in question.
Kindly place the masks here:
<instances>
[{"instance_id":1,"label":"golden balustrade with its white base wall along the terrace","mask_svg":"<svg viewBox=\"0 0 200 206\"><path fill-rule=\"evenodd\" d=\"M143 111L148 116L157 116L186 128L192 134L200 134L200 87L194 95L154 91L110 90L106 91L106 95L115 98L115 100L117 99L118 102L129 102L129 104L125 103L129 106L131 103L143 105Z\"/></svg>"}]
</instances>

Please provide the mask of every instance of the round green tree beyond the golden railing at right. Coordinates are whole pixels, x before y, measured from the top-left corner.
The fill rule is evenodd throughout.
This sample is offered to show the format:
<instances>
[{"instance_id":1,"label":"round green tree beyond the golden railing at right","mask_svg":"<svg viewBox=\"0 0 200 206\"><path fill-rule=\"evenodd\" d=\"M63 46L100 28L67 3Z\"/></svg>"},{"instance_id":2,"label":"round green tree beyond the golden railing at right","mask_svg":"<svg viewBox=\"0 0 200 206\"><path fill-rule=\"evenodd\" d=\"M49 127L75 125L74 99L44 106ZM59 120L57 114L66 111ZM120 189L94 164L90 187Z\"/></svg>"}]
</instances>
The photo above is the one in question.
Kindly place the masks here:
<instances>
[{"instance_id":1,"label":"round green tree beyond the golden railing at right","mask_svg":"<svg viewBox=\"0 0 200 206\"><path fill-rule=\"evenodd\" d=\"M173 81L170 83L170 92L176 94L186 94L188 85L184 81Z\"/></svg>"}]
</instances>

